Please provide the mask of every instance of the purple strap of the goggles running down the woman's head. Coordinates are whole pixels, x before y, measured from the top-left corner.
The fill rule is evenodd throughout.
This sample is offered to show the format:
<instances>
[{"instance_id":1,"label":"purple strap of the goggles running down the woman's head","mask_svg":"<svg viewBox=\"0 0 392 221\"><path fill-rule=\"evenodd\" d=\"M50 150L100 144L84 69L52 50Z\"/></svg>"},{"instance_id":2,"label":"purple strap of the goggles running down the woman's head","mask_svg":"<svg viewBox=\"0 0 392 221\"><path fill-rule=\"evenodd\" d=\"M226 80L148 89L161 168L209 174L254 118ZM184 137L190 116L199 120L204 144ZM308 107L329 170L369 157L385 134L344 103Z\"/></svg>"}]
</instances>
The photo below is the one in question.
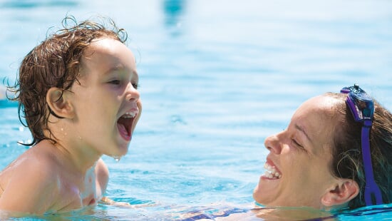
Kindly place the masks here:
<instances>
[{"instance_id":1,"label":"purple strap of the goggles running down the woman's head","mask_svg":"<svg viewBox=\"0 0 392 221\"><path fill-rule=\"evenodd\" d=\"M364 91L363 91L364 92ZM361 147L362 147L362 159L363 159L363 170L365 170L365 202L366 205L374 205L372 200L372 194L376 199L375 205L381 205L383 203L383 198L381 196L381 190L374 181L373 176L373 166L371 163L371 152L370 152L370 129L372 120L371 118L359 118L359 110L358 106L356 106L355 101L351 98L351 96L355 96L355 94L350 90L350 88L341 89L341 93L349 93L346 99L346 103L348 104L351 113L354 115L354 120L357 122L362 122L362 130L361 130ZM373 101L371 101L373 102Z\"/></svg>"}]
</instances>

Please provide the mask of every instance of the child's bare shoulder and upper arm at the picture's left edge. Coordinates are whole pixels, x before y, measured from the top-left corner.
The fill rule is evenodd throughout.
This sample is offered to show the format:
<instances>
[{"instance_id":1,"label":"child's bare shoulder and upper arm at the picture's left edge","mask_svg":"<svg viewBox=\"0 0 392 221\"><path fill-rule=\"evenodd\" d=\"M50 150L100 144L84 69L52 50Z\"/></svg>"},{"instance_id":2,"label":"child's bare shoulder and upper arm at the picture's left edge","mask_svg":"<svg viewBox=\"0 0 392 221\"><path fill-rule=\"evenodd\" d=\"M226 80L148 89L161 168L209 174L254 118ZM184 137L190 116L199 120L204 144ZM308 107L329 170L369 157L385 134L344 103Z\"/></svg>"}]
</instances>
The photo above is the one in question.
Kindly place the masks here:
<instances>
[{"instance_id":1,"label":"child's bare shoulder and upper arm at the picture's left edge","mask_svg":"<svg viewBox=\"0 0 392 221\"><path fill-rule=\"evenodd\" d=\"M58 200L60 169L56 160L43 149L35 146L26 150L0 173L0 185L3 189L1 208L45 212ZM51 194L43 195L43 192Z\"/></svg>"}]
</instances>

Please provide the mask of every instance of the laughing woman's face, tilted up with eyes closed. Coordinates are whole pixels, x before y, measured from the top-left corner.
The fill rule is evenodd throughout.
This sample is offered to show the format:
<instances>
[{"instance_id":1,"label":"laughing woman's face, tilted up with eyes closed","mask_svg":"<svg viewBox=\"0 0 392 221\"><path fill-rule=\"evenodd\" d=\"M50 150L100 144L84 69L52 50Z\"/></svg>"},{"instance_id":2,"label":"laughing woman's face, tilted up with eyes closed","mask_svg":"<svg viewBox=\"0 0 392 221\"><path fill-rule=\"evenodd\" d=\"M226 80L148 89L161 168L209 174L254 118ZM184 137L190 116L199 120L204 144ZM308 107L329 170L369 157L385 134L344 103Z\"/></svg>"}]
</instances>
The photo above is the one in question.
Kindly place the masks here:
<instances>
[{"instance_id":1,"label":"laughing woman's face, tilted up with eyes closed","mask_svg":"<svg viewBox=\"0 0 392 221\"><path fill-rule=\"evenodd\" d=\"M333 191L336 181L329 170L336 102L328 96L309 99L288 128L266 138L266 173L254 188L254 200L265 206L324 207L321 197Z\"/></svg>"}]
</instances>

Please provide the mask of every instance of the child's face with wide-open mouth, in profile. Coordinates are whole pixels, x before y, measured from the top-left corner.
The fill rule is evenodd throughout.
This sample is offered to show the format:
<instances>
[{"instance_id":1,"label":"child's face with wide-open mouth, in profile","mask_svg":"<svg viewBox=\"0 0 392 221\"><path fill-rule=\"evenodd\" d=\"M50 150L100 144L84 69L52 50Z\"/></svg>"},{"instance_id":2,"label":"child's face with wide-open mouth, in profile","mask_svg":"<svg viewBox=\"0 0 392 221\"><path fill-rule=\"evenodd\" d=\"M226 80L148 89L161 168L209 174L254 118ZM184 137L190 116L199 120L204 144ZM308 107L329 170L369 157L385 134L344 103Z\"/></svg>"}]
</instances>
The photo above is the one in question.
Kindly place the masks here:
<instances>
[{"instance_id":1,"label":"child's face with wide-open mouth, in profile","mask_svg":"<svg viewBox=\"0 0 392 221\"><path fill-rule=\"evenodd\" d=\"M133 53L120 41L100 38L81 60L81 78L71 91L76 142L100 154L125 155L140 117L138 73Z\"/></svg>"}]
</instances>

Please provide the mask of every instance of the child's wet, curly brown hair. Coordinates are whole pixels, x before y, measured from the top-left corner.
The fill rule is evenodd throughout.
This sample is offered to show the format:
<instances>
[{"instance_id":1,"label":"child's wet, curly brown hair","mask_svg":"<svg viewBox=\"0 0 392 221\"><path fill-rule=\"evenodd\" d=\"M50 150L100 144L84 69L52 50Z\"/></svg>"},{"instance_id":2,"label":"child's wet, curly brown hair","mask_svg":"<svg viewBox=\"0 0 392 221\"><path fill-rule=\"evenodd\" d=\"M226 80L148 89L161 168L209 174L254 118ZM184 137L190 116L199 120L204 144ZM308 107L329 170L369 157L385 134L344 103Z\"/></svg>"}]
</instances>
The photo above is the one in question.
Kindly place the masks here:
<instances>
[{"instance_id":1,"label":"child's wet, curly brown hair","mask_svg":"<svg viewBox=\"0 0 392 221\"><path fill-rule=\"evenodd\" d=\"M35 145L44 139L56 143L48 129L49 115L56 114L46 103L46 93L52 87L66 91L78 81L82 55L91 42L97 38L113 38L122 43L127 40L125 30L118 29L113 20L100 20L103 22L86 20L78 24L73 16L66 16L61 22L62 29L47 36L24 57L19 78L14 86L7 88L7 97L19 103L19 120L29 127L33 136L31 143L24 145ZM48 130L48 137L44 130Z\"/></svg>"}]
</instances>

